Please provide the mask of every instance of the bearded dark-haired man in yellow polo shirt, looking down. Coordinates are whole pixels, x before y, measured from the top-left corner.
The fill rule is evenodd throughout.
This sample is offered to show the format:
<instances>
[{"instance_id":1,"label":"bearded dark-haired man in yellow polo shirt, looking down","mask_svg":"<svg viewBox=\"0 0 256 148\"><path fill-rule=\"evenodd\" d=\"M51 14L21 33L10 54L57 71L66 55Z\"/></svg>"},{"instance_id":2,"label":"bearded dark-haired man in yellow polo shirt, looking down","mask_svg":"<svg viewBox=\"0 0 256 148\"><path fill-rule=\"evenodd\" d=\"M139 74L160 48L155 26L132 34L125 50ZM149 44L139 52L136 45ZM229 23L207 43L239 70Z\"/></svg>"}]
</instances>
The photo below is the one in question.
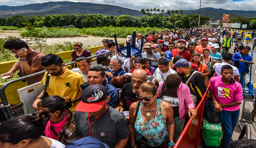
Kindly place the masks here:
<instances>
[{"instance_id":1,"label":"bearded dark-haired man in yellow polo shirt, looking down","mask_svg":"<svg viewBox=\"0 0 256 148\"><path fill-rule=\"evenodd\" d=\"M60 97L69 97L72 101L72 111L76 110L79 103L82 89L80 85L86 83L84 77L80 73L70 71L65 68L62 59L55 54L48 54L42 58L41 65L47 71L44 73L42 83L45 85L47 73L50 76L49 84L46 88L46 93L49 96L58 95ZM44 99L44 90L35 99L33 103L34 109L37 109L37 104ZM43 97L43 98L42 98Z\"/></svg>"}]
</instances>

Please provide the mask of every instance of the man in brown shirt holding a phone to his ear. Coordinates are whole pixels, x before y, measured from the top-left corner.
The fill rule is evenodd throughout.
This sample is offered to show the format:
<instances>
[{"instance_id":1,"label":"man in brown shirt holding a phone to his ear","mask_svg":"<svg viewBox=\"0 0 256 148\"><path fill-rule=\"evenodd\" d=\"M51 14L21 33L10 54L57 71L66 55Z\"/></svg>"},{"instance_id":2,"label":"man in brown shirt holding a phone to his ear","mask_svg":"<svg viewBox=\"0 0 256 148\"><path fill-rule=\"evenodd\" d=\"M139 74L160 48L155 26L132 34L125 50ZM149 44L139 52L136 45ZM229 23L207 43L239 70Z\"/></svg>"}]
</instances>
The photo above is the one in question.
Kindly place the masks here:
<instances>
[{"instance_id":1,"label":"man in brown shirt holding a phone to his ear","mask_svg":"<svg viewBox=\"0 0 256 148\"><path fill-rule=\"evenodd\" d=\"M44 70L40 63L44 54L36 49L30 48L25 41L22 41L21 39L9 39L4 43L4 48L9 49L12 53L16 53L15 57L18 58L18 61L14 63L12 69L7 73L2 74L0 77L10 79L18 69L20 70L20 77ZM40 82L43 76L44 75L42 74L28 78L26 79L26 83L27 85L32 85Z\"/></svg>"}]
</instances>

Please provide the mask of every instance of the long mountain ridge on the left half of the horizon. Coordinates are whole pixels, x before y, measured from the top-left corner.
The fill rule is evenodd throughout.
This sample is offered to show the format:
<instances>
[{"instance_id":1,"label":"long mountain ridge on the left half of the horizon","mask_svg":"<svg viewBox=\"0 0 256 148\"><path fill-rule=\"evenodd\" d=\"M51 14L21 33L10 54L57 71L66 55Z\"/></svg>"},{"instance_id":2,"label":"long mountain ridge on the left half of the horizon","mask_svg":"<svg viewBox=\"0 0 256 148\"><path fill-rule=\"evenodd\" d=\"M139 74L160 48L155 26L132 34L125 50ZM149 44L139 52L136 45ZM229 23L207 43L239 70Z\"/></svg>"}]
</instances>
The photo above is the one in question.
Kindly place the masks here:
<instances>
[{"instance_id":1,"label":"long mountain ridge on the left half of the horizon","mask_svg":"<svg viewBox=\"0 0 256 148\"><path fill-rule=\"evenodd\" d=\"M105 16L141 16L138 10L119 6L94 4L85 2L45 2L42 4L28 4L24 6L0 6L0 18L10 18L20 14L22 16L45 16L54 14L103 14Z\"/></svg>"}]
</instances>

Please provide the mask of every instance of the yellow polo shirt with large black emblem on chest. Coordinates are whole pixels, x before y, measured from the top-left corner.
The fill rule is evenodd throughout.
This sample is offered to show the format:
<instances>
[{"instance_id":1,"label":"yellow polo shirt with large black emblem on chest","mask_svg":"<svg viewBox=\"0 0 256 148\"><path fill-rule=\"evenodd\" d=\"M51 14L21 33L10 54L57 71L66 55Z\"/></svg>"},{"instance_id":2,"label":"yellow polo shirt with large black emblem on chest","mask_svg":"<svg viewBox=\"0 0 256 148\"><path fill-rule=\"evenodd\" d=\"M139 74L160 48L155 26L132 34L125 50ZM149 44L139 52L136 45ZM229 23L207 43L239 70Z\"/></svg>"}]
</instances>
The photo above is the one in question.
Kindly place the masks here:
<instances>
[{"instance_id":1,"label":"yellow polo shirt with large black emblem on chest","mask_svg":"<svg viewBox=\"0 0 256 148\"><path fill-rule=\"evenodd\" d=\"M58 95L60 97L68 96L70 99L75 99L81 95L82 89L80 85L86 83L84 77L80 73L76 73L64 67L66 71L59 77L50 75L49 85L46 92L49 96ZM47 72L44 73L42 83L45 84ZM79 101L72 104L70 108L72 111L76 111L76 106Z\"/></svg>"}]
</instances>

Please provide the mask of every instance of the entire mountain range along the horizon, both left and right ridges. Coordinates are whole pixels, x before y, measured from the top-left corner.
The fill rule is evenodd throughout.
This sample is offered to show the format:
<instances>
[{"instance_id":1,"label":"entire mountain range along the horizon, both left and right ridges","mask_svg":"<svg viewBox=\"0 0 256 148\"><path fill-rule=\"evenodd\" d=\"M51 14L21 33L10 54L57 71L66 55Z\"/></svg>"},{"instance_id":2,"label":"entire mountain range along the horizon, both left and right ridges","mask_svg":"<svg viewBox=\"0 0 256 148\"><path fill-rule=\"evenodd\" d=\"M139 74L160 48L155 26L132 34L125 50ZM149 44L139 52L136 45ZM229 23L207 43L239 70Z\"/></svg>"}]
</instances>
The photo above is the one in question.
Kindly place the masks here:
<instances>
[{"instance_id":1,"label":"entire mountain range along the horizon, both left and right ridges","mask_svg":"<svg viewBox=\"0 0 256 148\"><path fill-rule=\"evenodd\" d=\"M184 14L198 15L197 10L183 10ZM121 16L124 14L130 16L141 16L142 13L138 10L123 8L119 6L107 4L94 4L86 2L45 2L42 4L28 4L24 6L0 6L0 18L10 18L20 14L23 16L46 16L54 14L103 14L105 16ZM201 8L201 16L213 18L212 20L222 20L223 14L233 16L244 16L246 18L255 17L256 11L241 11L241 10L225 10L216 8ZM166 15L166 12L165 12Z\"/></svg>"}]
</instances>

